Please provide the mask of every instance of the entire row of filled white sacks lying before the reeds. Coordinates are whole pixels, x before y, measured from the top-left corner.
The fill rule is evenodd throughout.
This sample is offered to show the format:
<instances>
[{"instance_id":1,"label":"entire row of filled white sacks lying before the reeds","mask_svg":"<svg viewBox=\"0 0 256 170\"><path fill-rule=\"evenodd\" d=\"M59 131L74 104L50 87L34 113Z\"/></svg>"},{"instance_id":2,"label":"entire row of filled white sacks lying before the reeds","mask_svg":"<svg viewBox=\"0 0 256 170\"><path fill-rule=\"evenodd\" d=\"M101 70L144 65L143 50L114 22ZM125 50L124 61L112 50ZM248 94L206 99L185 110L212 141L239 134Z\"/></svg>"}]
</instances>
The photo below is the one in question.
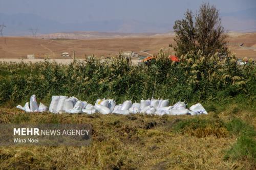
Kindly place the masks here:
<instances>
[{"instance_id":1,"label":"entire row of filled white sacks lying before the reeds","mask_svg":"<svg viewBox=\"0 0 256 170\"><path fill-rule=\"evenodd\" d=\"M98 99L95 105L89 104L84 101L79 101L75 97L68 98L67 96L54 95L48 107L40 103L39 106L36 102L35 95L32 95L30 102L27 102L24 107L18 105L17 108L26 112L44 112L51 113L101 113L101 114L155 114L155 115L198 115L207 114L204 107L198 103L189 108L186 108L184 102L178 102L173 106L169 106L168 100L152 99L141 100L140 103L132 103L132 101L125 101L122 104L116 105L112 99Z\"/></svg>"}]
</instances>

